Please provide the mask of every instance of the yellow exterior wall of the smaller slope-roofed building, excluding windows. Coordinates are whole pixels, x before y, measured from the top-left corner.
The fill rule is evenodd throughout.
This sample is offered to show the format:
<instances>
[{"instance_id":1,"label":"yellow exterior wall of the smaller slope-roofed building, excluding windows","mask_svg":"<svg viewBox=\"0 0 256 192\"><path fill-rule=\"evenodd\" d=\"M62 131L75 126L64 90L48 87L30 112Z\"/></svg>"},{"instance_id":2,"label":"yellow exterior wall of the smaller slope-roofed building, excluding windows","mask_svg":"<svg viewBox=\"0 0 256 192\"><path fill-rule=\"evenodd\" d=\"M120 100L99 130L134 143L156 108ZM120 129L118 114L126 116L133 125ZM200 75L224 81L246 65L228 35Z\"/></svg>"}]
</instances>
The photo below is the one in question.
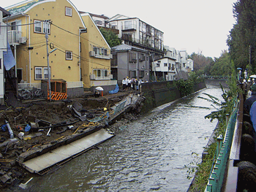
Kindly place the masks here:
<instances>
[{"instance_id":1,"label":"yellow exterior wall of the smaller slope-roofed building, excluding windows","mask_svg":"<svg viewBox=\"0 0 256 192\"><path fill-rule=\"evenodd\" d=\"M87 33L81 34L81 77L86 88L93 86L90 75L94 69L107 69L108 78L110 80L110 47L99 31L99 28L91 19L89 14L82 14L83 22L87 26ZM93 47L100 47L108 50L105 58L95 58L90 56L90 51L94 51ZM99 80L104 84L106 80ZM115 84L116 85L116 84Z\"/></svg>"}]
</instances>

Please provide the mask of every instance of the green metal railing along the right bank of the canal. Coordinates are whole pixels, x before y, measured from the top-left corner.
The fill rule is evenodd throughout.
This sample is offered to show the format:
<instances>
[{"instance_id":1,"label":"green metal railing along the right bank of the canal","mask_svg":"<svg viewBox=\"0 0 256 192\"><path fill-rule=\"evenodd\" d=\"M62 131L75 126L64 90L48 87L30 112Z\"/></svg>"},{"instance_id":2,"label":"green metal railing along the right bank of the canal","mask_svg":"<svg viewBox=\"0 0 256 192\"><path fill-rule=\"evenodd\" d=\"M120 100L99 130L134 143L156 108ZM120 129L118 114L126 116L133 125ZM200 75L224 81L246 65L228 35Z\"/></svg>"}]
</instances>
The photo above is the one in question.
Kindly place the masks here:
<instances>
[{"instance_id":1,"label":"green metal railing along the right bank of the canal","mask_svg":"<svg viewBox=\"0 0 256 192\"><path fill-rule=\"evenodd\" d=\"M225 169L227 166L227 160L230 155L230 147L232 145L234 128L236 126L237 112L238 112L238 102L234 101L234 110L230 115L230 119L228 120L228 123L227 123L224 142L222 142L221 136L217 138L217 150L216 150L217 160L214 161L212 165L211 174L208 179L205 192L221 191L224 175L225 175Z\"/></svg>"}]
</instances>

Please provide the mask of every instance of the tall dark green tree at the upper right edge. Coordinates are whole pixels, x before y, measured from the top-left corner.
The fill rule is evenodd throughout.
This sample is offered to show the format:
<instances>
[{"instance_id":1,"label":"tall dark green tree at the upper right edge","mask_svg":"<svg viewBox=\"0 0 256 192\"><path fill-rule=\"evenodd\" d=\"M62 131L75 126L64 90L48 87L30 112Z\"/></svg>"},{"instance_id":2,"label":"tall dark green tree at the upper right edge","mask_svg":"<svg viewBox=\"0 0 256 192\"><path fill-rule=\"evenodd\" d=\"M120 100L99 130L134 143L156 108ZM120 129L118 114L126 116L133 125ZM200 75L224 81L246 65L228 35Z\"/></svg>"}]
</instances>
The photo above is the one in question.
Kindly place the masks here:
<instances>
[{"instance_id":1,"label":"tall dark green tree at the upper right edge","mask_svg":"<svg viewBox=\"0 0 256 192\"><path fill-rule=\"evenodd\" d=\"M249 74L256 69L256 1L240 0L233 4L236 24L227 38L227 45L236 68L249 69ZM249 64L251 50L251 66Z\"/></svg>"}]
</instances>

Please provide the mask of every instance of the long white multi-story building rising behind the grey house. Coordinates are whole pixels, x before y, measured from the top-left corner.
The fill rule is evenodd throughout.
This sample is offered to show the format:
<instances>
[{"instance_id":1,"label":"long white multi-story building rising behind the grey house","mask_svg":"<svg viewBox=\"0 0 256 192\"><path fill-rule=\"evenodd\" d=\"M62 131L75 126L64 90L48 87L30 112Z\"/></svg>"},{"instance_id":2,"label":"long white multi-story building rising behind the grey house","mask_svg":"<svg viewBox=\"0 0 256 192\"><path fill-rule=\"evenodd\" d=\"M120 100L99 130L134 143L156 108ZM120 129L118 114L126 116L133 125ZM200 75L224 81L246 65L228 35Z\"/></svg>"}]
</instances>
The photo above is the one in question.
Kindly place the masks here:
<instances>
[{"instance_id":1,"label":"long white multi-story building rising behind the grey house","mask_svg":"<svg viewBox=\"0 0 256 192\"><path fill-rule=\"evenodd\" d=\"M124 41L124 44L148 50L154 53L156 59L164 55L164 33L157 28L139 18L129 18L119 14L110 18L108 22L119 30L118 37Z\"/></svg>"}]
</instances>

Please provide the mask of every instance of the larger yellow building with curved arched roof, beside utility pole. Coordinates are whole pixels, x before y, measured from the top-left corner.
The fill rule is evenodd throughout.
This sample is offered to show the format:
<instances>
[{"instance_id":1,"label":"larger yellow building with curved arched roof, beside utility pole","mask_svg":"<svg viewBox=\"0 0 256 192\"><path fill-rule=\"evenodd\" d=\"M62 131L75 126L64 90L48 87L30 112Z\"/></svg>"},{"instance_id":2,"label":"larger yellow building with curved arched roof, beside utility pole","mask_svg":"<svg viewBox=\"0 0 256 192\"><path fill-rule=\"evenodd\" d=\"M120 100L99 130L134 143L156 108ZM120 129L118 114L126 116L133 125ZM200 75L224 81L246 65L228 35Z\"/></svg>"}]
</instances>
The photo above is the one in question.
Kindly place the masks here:
<instances>
[{"instance_id":1,"label":"larger yellow building with curved arched roof, beside utility pole","mask_svg":"<svg viewBox=\"0 0 256 192\"><path fill-rule=\"evenodd\" d=\"M41 80L48 80L49 58L51 79L65 80L68 87L83 87L79 41L86 26L71 1L26 1L7 10L11 13L5 20L10 26L8 41L17 63L12 77L16 76L18 82L40 85Z\"/></svg>"}]
</instances>

